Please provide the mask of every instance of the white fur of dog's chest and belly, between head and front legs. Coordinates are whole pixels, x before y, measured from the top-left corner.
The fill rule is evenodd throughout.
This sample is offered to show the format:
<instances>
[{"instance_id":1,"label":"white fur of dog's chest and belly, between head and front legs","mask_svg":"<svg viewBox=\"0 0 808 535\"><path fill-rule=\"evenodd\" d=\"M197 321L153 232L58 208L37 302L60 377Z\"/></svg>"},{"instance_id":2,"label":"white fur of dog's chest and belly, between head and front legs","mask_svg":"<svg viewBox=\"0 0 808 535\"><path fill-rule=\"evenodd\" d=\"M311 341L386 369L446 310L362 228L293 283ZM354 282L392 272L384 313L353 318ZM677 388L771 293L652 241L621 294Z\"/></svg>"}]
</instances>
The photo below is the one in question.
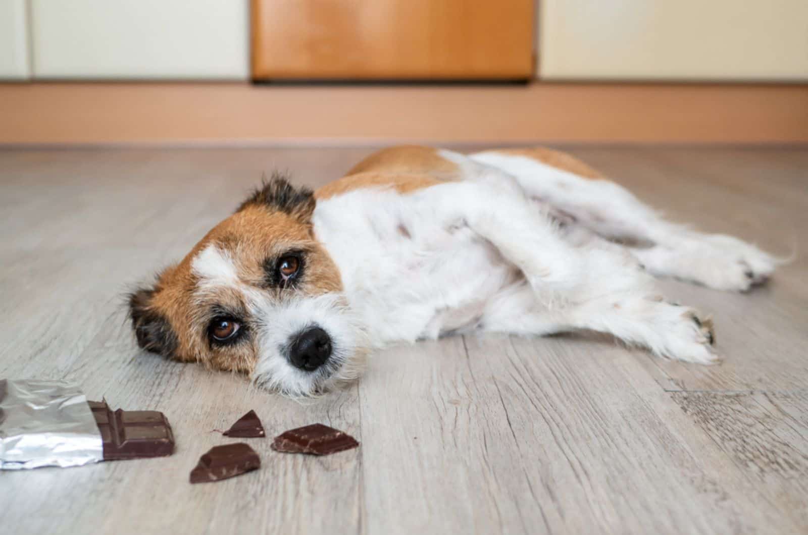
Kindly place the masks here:
<instances>
[{"instance_id":1,"label":"white fur of dog's chest and belly, between head and front legs","mask_svg":"<svg viewBox=\"0 0 808 535\"><path fill-rule=\"evenodd\" d=\"M467 326L517 276L467 227L438 221L437 209L429 200L374 188L321 201L314 211L317 237L374 346ZM434 321L448 311L445 324Z\"/></svg>"}]
</instances>

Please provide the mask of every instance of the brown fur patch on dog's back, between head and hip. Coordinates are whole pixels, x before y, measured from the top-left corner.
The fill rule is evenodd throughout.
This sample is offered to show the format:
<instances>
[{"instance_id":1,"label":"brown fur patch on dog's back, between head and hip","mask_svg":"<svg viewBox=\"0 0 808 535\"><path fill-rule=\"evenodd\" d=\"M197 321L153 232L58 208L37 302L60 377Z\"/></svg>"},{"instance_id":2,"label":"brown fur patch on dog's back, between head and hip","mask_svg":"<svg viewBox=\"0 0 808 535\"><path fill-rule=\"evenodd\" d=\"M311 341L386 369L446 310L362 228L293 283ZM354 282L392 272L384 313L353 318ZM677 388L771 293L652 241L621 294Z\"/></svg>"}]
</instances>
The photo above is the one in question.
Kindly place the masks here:
<instances>
[{"instance_id":1,"label":"brown fur patch on dog's back, between head and hip","mask_svg":"<svg viewBox=\"0 0 808 535\"><path fill-rule=\"evenodd\" d=\"M418 145L378 150L351 167L346 176L369 171L396 175L430 175L439 180L461 178L461 169L456 163L441 157L436 149Z\"/></svg>"}]
</instances>

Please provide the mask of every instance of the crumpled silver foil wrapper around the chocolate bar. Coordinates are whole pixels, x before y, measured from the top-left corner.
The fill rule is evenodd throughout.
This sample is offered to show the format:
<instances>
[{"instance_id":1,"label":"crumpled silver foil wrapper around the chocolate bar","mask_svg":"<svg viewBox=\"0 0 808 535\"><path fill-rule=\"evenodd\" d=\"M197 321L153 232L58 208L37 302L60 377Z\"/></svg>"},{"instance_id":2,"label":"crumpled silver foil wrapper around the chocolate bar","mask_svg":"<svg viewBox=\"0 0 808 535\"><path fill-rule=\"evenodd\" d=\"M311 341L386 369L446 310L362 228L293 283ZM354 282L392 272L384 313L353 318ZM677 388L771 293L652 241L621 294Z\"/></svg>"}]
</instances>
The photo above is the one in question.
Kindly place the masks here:
<instances>
[{"instance_id":1,"label":"crumpled silver foil wrapper around the chocolate bar","mask_svg":"<svg viewBox=\"0 0 808 535\"><path fill-rule=\"evenodd\" d=\"M98 461L101 432L78 385L0 379L0 469Z\"/></svg>"}]
</instances>

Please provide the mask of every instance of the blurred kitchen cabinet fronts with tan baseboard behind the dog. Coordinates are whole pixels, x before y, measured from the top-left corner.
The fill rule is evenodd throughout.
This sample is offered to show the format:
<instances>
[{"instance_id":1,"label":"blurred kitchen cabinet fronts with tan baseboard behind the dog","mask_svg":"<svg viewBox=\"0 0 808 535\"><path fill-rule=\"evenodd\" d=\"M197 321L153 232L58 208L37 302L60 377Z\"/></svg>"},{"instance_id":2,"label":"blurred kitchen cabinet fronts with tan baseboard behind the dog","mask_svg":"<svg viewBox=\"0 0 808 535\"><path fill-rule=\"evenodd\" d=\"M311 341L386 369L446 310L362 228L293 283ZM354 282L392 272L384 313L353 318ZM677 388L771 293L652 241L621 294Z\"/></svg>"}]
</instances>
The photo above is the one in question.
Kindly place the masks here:
<instances>
[{"instance_id":1,"label":"blurred kitchen cabinet fronts with tan baseboard behind the dog","mask_svg":"<svg viewBox=\"0 0 808 535\"><path fill-rule=\"evenodd\" d=\"M808 142L806 0L0 0L0 143Z\"/></svg>"}]
</instances>

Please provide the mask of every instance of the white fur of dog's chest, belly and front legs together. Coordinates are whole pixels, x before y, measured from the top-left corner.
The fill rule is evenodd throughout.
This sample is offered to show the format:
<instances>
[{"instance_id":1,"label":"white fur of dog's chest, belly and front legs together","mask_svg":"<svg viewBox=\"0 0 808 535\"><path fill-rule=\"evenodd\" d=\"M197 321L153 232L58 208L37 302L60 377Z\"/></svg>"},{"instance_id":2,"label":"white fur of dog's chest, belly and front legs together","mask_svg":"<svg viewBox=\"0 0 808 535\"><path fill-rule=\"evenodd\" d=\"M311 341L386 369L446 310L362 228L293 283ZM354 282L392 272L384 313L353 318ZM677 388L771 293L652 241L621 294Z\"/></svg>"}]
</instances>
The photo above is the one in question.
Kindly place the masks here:
<instances>
[{"instance_id":1,"label":"white fur of dog's chest, belly and front legs together","mask_svg":"<svg viewBox=\"0 0 808 535\"><path fill-rule=\"evenodd\" d=\"M318 203L315 232L373 345L473 328L595 329L662 356L715 360L696 312L656 299L631 255L573 246L516 179L467 169L466 181L409 195L367 188Z\"/></svg>"}]
</instances>

